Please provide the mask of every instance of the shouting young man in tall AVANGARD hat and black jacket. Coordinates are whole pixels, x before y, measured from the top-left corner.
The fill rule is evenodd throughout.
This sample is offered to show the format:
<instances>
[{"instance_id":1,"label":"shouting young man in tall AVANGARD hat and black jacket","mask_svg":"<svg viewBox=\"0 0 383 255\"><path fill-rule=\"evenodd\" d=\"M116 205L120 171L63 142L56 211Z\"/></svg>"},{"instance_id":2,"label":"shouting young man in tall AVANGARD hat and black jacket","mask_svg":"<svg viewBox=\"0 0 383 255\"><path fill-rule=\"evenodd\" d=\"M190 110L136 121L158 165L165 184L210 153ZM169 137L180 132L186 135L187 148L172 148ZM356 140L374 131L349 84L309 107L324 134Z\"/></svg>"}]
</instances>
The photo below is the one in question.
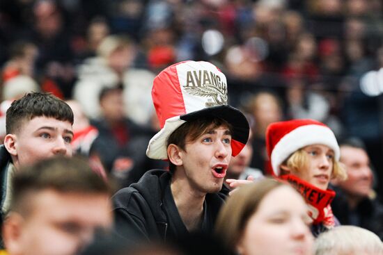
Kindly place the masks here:
<instances>
[{"instance_id":1,"label":"shouting young man in tall AVANGARD hat and black jacket","mask_svg":"<svg viewBox=\"0 0 383 255\"><path fill-rule=\"evenodd\" d=\"M226 77L207 62L167 67L155 77L152 97L162 129L146 154L168 160L169 171L150 170L114 195L116 231L138 240L210 233L230 157L249 136L247 119L227 105Z\"/></svg>"}]
</instances>

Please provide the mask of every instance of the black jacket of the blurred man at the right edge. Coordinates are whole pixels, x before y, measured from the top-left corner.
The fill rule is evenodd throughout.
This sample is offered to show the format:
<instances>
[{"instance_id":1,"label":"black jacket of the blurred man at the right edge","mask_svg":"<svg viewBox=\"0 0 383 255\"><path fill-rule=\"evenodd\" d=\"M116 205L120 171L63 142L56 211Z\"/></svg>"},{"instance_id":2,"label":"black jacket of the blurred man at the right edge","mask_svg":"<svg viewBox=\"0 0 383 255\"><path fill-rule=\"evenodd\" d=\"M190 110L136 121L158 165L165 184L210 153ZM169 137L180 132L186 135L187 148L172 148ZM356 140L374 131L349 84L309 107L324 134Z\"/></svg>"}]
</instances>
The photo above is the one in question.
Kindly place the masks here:
<instances>
[{"instance_id":1,"label":"black jacket of the blurred man at the right edge","mask_svg":"<svg viewBox=\"0 0 383 255\"><path fill-rule=\"evenodd\" d=\"M343 190L337 188L331 204L332 211L343 225L354 225L368 229L383 240L383 205L378 199L366 197L352 210Z\"/></svg>"}]
</instances>

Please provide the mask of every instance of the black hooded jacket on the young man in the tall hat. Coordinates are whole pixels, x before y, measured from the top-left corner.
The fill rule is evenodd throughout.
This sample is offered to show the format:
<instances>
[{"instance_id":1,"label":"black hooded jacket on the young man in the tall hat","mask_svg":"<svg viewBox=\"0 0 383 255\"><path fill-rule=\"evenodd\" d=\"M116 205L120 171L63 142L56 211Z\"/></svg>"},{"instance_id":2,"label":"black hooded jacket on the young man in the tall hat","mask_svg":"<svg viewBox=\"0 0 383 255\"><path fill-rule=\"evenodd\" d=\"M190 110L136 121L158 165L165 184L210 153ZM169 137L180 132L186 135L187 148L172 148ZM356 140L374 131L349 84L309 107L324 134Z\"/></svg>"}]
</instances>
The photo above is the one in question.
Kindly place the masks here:
<instances>
[{"instance_id":1,"label":"black hooded jacket on the young man in the tall hat","mask_svg":"<svg viewBox=\"0 0 383 255\"><path fill-rule=\"evenodd\" d=\"M187 235L170 190L171 174L150 170L138 183L119 190L114 197L116 231L129 240L169 240ZM201 229L212 232L223 192L207 194Z\"/></svg>"}]
</instances>

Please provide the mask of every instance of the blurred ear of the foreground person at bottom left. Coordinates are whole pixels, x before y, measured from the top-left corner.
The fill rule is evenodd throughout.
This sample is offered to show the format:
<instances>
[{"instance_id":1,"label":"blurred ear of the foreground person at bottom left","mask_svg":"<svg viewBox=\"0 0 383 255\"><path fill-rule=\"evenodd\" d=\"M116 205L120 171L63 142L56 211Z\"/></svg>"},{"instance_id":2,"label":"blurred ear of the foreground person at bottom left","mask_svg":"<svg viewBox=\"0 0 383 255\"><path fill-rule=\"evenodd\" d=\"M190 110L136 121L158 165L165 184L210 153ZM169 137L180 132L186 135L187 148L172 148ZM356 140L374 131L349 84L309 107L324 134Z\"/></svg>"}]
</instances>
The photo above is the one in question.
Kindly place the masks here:
<instances>
[{"instance_id":1,"label":"blurred ear of the foreground person at bottom left","mask_svg":"<svg viewBox=\"0 0 383 255\"><path fill-rule=\"evenodd\" d=\"M8 254L22 254L22 225L24 219L19 213L10 213L3 222L3 242Z\"/></svg>"}]
</instances>

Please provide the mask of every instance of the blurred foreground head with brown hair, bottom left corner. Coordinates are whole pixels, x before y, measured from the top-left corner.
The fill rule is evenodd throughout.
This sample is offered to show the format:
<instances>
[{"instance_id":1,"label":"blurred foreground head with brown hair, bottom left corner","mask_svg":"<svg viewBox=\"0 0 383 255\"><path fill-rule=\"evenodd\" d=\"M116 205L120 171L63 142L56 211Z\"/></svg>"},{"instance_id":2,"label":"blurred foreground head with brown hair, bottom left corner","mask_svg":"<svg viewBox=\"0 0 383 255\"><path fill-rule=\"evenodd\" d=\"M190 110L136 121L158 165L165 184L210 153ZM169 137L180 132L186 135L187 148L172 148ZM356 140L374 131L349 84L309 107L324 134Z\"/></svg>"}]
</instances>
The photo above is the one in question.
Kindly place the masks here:
<instances>
[{"instance_id":1,"label":"blurred foreground head with brown hair, bottom left corner","mask_svg":"<svg viewBox=\"0 0 383 255\"><path fill-rule=\"evenodd\" d=\"M96 230L111 227L111 193L86 158L49 158L21 169L3 226L8 254L77 254Z\"/></svg>"}]
</instances>

